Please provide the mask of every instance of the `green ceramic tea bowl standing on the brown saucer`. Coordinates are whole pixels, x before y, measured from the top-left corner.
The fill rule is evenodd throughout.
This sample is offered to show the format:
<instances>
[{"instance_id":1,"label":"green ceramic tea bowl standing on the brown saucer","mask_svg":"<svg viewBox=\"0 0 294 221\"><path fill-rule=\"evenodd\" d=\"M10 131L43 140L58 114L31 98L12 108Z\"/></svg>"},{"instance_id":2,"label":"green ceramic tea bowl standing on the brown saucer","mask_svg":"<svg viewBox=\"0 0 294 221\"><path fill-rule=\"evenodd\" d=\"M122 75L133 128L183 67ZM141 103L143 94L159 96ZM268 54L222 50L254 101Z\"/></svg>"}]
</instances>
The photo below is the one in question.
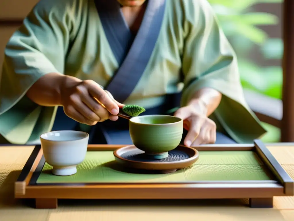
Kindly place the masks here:
<instances>
[{"instance_id":1,"label":"green ceramic tea bowl standing on the brown saucer","mask_svg":"<svg viewBox=\"0 0 294 221\"><path fill-rule=\"evenodd\" d=\"M168 115L145 115L129 120L133 144L153 158L163 159L175 149L183 135L183 120Z\"/></svg>"}]
</instances>

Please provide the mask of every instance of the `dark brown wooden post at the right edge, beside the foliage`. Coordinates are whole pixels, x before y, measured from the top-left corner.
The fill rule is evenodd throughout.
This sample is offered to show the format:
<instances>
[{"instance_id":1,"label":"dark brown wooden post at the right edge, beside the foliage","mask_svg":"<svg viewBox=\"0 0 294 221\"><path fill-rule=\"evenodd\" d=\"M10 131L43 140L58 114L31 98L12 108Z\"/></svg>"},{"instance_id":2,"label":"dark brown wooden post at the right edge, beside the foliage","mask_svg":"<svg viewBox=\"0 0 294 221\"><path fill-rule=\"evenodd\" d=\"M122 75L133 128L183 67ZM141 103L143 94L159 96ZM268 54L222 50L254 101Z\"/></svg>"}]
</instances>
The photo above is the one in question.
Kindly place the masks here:
<instances>
[{"instance_id":1,"label":"dark brown wooden post at the right edge, beside the foliage","mask_svg":"<svg viewBox=\"0 0 294 221\"><path fill-rule=\"evenodd\" d=\"M294 142L294 0L283 3L283 119L281 142Z\"/></svg>"}]
</instances>

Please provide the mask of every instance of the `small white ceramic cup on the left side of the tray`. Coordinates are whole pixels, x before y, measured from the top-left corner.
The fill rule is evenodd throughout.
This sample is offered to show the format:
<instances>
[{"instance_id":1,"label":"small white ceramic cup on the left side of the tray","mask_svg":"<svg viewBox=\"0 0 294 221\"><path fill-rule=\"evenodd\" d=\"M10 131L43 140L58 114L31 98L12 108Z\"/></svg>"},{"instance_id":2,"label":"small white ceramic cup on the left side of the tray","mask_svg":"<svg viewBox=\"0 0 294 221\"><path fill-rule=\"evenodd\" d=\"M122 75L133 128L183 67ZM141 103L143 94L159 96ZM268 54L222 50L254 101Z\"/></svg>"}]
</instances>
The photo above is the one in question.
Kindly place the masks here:
<instances>
[{"instance_id":1,"label":"small white ceramic cup on the left side of the tray","mask_svg":"<svg viewBox=\"0 0 294 221\"><path fill-rule=\"evenodd\" d=\"M69 176L85 159L89 134L81 131L51 131L40 136L46 162L53 166L52 173Z\"/></svg>"}]
</instances>

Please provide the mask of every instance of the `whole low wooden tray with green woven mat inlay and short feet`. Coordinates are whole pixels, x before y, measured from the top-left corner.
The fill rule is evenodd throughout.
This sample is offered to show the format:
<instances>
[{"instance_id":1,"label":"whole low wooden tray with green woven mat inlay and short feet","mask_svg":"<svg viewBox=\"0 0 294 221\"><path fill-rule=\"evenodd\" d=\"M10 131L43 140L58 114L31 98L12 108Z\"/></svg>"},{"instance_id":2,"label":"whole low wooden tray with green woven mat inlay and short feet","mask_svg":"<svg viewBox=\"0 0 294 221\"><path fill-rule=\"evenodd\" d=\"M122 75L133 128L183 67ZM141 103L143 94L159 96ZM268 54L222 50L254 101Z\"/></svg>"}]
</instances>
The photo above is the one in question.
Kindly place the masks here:
<instances>
[{"instance_id":1,"label":"whole low wooden tray with green woven mat inlay and short feet","mask_svg":"<svg viewBox=\"0 0 294 221\"><path fill-rule=\"evenodd\" d=\"M260 140L195 147L199 160L171 174L111 169L117 165L113 151L123 146L88 145L78 173L58 177L50 174L37 145L15 182L15 198L36 199L36 208L57 208L57 199L234 198L249 198L250 207L273 207L274 196L294 195L293 179Z\"/></svg>"}]
</instances>

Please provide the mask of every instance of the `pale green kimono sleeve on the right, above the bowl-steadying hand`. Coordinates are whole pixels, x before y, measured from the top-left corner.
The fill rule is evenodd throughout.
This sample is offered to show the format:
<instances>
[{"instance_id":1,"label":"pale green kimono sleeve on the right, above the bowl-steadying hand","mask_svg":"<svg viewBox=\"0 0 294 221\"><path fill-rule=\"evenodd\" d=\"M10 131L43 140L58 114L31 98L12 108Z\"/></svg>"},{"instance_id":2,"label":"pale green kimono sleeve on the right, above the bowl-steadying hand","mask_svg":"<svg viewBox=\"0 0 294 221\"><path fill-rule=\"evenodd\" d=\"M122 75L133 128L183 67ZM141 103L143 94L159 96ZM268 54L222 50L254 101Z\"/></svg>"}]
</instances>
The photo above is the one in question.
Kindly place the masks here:
<instances>
[{"instance_id":1,"label":"pale green kimono sleeve on the right, above the bowl-steadying hand","mask_svg":"<svg viewBox=\"0 0 294 221\"><path fill-rule=\"evenodd\" d=\"M189 1L187 6L181 105L201 88L218 90L223 96L212 116L220 123L218 129L238 143L252 143L266 131L245 101L235 52L206 0Z\"/></svg>"}]
</instances>

